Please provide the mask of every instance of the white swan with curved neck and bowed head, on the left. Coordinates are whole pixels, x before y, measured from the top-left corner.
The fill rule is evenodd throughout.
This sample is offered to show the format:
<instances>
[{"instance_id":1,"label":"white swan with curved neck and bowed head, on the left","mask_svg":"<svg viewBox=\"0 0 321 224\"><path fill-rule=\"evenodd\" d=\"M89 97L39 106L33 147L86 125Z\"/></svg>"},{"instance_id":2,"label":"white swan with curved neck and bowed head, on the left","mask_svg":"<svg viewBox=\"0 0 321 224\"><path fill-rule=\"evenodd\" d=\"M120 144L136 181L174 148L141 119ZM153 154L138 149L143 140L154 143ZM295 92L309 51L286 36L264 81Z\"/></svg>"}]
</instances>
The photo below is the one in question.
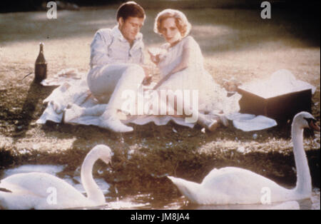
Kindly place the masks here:
<instances>
[{"instance_id":1,"label":"white swan with curved neck and bowed head, on the left","mask_svg":"<svg viewBox=\"0 0 321 224\"><path fill-rule=\"evenodd\" d=\"M111 161L108 146L97 145L87 154L81 166L81 183L87 197L66 181L49 173L18 173L0 180L0 208L61 209L103 205L103 192L93 180L93 164L100 158Z\"/></svg>"}]
</instances>

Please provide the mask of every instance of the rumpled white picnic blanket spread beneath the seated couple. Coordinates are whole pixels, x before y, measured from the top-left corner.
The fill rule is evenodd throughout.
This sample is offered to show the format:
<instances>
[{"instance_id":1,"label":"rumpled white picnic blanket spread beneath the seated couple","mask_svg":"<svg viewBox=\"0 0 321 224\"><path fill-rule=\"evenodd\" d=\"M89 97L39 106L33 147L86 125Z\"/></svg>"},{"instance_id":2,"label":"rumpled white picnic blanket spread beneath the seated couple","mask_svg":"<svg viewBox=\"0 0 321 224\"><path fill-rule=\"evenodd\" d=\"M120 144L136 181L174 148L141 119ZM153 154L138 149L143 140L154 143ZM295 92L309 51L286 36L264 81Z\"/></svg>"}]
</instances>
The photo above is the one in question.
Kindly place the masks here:
<instances>
[{"instance_id":1,"label":"rumpled white picnic blanket spread beneath the seated couple","mask_svg":"<svg viewBox=\"0 0 321 224\"><path fill-rule=\"evenodd\" d=\"M58 86L48 96L44 103L48 103L44 113L36 123L44 124L46 121L56 123L81 124L86 126L99 126L99 116L105 111L107 104L100 104L91 95L91 91L86 83L86 74L78 72L76 69L68 68L60 71L52 78L47 78L41 82L44 86ZM77 116L81 108L94 108L95 114L91 116ZM73 116L64 116L72 114ZM79 113L81 114L81 113ZM233 113L226 115L228 120L233 121L235 128L242 131L258 131L276 126L277 123L265 116L254 116L249 114ZM166 125L173 121L180 126L193 128L195 123L185 122L185 118L175 118L173 116L132 116L122 120L123 123L135 123L145 125L153 122L157 126Z\"/></svg>"}]
</instances>

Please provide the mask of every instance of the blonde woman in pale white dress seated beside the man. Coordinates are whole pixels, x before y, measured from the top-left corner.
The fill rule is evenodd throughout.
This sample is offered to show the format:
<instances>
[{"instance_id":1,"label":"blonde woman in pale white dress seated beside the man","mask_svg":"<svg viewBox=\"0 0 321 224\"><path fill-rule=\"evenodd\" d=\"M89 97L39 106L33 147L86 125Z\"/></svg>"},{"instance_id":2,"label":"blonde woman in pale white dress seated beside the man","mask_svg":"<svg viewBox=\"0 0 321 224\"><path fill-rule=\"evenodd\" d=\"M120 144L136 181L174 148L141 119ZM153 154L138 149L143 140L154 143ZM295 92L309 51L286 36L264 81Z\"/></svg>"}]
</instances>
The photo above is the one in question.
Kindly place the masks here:
<instances>
[{"instance_id":1,"label":"blonde woman in pale white dress seated beside the man","mask_svg":"<svg viewBox=\"0 0 321 224\"><path fill-rule=\"evenodd\" d=\"M154 31L163 36L166 43L161 46L162 51L159 53L153 54L148 51L151 61L156 63L161 71L161 81L154 89L198 90L198 108L189 106L193 113L201 111L219 115L238 111L240 97L228 98L227 92L205 71L200 46L192 36L188 36L190 29L188 19L181 11L165 9L156 16ZM183 99L183 102L184 108L188 107L186 104L192 105L190 101ZM198 123L210 131L214 131L218 123L224 121L223 116L217 116L213 121L209 121L203 113L198 113Z\"/></svg>"}]
</instances>

